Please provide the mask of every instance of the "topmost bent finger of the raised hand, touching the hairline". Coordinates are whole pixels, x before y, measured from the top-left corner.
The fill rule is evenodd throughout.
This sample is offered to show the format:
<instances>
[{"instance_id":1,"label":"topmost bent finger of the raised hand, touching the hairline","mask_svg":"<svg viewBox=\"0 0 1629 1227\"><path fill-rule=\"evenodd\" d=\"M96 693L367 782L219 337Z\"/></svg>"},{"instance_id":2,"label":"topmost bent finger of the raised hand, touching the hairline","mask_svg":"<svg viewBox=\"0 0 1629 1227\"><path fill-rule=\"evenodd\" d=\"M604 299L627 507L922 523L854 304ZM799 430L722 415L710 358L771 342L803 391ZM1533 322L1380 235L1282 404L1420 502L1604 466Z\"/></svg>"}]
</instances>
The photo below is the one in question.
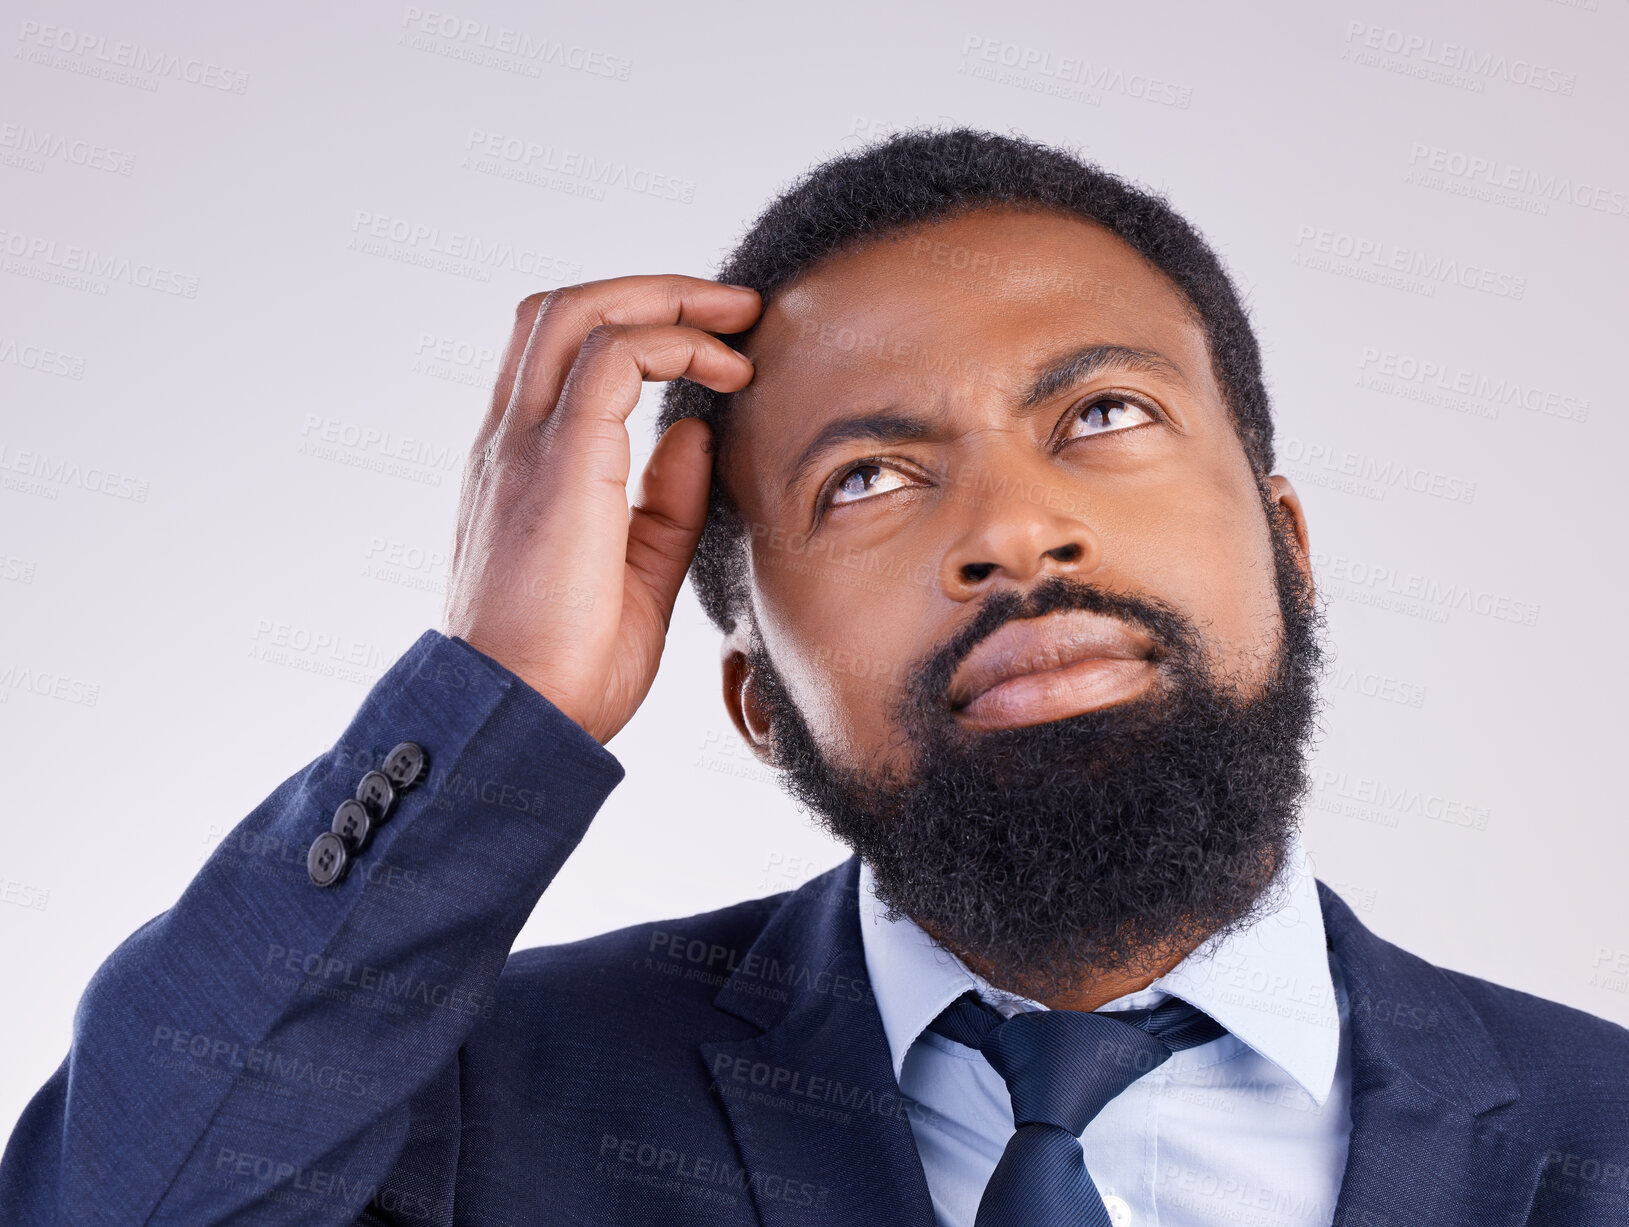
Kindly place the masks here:
<instances>
[{"instance_id":1,"label":"topmost bent finger of the raised hand, touching the hairline","mask_svg":"<svg viewBox=\"0 0 1629 1227\"><path fill-rule=\"evenodd\" d=\"M709 332L744 332L759 311L756 290L683 274L613 277L554 290L533 310L502 420L521 425L547 417L577 352L601 324L686 324Z\"/></svg>"}]
</instances>

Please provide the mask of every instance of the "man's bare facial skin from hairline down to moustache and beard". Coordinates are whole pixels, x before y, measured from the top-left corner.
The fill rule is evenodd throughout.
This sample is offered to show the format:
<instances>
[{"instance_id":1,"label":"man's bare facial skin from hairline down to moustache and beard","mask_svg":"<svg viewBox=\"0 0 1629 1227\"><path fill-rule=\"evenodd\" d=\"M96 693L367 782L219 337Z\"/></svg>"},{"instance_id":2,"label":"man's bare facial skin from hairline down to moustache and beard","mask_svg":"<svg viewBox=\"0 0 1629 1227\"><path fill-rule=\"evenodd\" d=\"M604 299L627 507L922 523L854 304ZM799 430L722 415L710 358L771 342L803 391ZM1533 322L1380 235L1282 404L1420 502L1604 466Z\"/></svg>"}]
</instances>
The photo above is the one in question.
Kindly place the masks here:
<instances>
[{"instance_id":1,"label":"man's bare facial skin from hairline down to moustache and beard","mask_svg":"<svg viewBox=\"0 0 1629 1227\"><path fill-rule=\"evenodd\" d=\"M1157 362L1111 354L1028 402L1087 347ZM889 706L911 668L992 593L1049 575L1181 611L1215 678L1266 675L1267 520L1204 331L1109 231L981 210L873 241L775 297L748 352L757 375L718 474L753 531L764 647L834 763L902 767ZM800 464L873 416L930 433L839 440ZM1157 670L1124 673L1100 684L1126 694Z\"/></svg>"}]
</instances>

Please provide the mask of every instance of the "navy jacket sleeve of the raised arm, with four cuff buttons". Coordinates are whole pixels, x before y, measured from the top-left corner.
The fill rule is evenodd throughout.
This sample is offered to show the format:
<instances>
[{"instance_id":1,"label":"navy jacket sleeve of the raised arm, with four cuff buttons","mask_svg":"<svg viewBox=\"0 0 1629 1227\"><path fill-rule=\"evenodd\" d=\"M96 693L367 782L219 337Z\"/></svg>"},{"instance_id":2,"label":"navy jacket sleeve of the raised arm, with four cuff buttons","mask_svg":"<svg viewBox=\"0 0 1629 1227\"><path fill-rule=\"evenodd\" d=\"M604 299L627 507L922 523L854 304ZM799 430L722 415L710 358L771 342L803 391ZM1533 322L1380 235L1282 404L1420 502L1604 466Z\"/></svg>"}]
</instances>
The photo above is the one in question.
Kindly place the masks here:
<instances>
[{"instance_id":1,"label":"navy jacket sleeve of the raised arm, with four cuff buttons","mask_svg":"<svg viewBox=\"0 0 1629 1227\"><path fill-rule=\"evenodd\" d=\"M314 885L306 849L401 741L428 774ZM393 1172L435 1142L425 1105L456 1105L459 1046L622 776L518 676L427 631L98 968L0 1160L0 1220L397 1217Z\"/></svg>"}]
</instances>

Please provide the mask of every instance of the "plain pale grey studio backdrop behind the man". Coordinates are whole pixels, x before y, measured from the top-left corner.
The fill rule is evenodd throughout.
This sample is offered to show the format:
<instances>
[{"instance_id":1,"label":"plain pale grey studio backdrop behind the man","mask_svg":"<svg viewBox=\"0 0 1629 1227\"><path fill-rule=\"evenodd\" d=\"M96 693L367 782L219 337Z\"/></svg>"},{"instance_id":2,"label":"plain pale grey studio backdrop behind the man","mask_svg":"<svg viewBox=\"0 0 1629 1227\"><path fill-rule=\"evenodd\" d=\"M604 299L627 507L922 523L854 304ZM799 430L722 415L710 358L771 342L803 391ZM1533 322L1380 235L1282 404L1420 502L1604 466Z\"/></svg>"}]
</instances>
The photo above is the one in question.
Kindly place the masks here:
<instances>
[{"instance_id":1,"label":"plain pale grey studio backdrop behind the man","mask_svg":"<svg viewBox=\"0 0 1629 1227\"><path fill-rule=\"evenodd\" d=\"M1220 248L1337 647L1319 875L1629 1023L1626 39L1626 0L7 5L0 1128L96 965L438 624L515 303L712 275L912 122L1078 147ZM523 945L844 855L736 740L689 588L611 750Z\"/></svg>"}]
</instances>

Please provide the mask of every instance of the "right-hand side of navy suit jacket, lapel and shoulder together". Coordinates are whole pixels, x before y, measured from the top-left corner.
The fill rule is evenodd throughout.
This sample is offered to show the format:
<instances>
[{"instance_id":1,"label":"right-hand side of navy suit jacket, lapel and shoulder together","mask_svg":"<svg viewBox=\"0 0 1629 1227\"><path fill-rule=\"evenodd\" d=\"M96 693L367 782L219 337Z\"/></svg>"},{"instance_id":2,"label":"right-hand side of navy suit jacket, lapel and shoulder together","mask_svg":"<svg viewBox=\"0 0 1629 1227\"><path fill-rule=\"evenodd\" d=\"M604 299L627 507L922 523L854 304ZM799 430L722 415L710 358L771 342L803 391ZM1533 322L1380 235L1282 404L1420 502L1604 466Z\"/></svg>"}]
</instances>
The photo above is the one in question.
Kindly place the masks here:
<instances>
[{"instance_id":1,"label":"right-hand side of navy suit jacket, lapel and shoulder together","mask_svg":"<svg viewBox=\"0 0 1629 1227\"><path fill-rule=\"evenodd\" d=\"M1629 1030L1429 963L1370 932L1321 882L1318 893L1349 994L1347 1185L1380 1188L1388 1168L1425 1165L1451 1191L1422 1204L1440 1203L1434 1214L1629 1222Z\"/></svg>"}]
</instances>

